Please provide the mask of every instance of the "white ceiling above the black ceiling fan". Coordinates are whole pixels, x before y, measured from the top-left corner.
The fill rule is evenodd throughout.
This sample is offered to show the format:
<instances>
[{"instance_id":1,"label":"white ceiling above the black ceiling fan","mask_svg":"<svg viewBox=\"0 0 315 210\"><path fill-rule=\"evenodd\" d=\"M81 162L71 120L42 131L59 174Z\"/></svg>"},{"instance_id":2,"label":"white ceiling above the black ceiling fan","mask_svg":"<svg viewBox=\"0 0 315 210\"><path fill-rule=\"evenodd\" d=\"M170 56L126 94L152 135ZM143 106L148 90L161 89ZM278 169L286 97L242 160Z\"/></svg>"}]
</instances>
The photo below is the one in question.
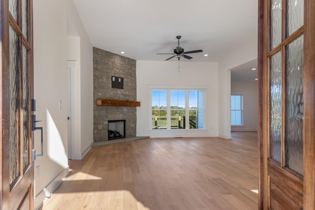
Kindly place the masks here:
<instances>
[{"instance_id":1,"label":"white ceiling above the black ceiling fan","mask_svg":"<svg viewBox=\"0 0 315 210\"><path fill-rule=\"evenodd\" d=\"M173 53L177 35L182 36L180 46L186 52L203 50L189 54L191 61L219 61L257 37L257 0L73 2L94 47L116 54L124 51L124 56L134 60L169 58L171 55L156 54ZM171 61L176 60L165 62Z\"/></svg>"}]
</instances>

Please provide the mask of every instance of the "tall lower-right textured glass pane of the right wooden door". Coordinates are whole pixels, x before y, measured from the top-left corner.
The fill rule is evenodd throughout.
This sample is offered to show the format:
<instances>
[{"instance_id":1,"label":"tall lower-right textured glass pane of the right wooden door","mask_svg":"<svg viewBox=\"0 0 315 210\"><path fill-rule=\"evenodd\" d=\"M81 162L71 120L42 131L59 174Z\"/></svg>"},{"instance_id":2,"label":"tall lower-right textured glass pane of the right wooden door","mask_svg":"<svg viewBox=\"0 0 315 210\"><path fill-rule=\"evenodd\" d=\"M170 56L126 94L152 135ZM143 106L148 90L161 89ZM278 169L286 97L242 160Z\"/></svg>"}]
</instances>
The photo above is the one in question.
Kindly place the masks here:
<instances>
[{"instance_id":1,"label":"tall lower-right textured glass pane of the right wooden door","mask_svg":"<svg viewBox=\"0 0 315 210\"><path fill-rule=\"evenodd\" d=\"M285 148L286 166L303 175L303 41L286 46Z\"/></svg>"}]
</instances>

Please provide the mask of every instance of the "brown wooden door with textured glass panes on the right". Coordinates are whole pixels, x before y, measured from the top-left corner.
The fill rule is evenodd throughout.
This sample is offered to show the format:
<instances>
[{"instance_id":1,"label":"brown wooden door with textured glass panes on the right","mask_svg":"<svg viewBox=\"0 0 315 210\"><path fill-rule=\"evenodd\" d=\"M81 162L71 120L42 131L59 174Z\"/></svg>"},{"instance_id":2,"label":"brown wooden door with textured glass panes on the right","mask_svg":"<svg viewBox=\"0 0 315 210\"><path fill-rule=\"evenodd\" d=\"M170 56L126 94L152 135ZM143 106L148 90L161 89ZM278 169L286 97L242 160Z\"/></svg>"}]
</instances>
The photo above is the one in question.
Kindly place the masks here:
<instances>
[{"instance_id":1,"label":"brown wooden door with textured glass panes on the right","mask_svg":"<svg viewBox=\"0 0 315 210\"><path fill-rule=\"evenodd\" d=\"M315 1L259 0L259 209L315 208Z\"/></svg>"}]
</instances>

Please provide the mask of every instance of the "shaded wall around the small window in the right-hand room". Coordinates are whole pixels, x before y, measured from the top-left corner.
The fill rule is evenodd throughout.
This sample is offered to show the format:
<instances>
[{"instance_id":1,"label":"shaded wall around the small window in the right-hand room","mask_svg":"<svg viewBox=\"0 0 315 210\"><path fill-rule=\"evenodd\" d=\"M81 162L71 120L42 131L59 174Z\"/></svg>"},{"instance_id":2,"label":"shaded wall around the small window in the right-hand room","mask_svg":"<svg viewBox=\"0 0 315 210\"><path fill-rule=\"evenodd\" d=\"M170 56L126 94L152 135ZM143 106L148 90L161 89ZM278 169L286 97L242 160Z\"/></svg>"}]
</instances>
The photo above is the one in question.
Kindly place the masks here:
<instances>
[{"instance_id":1,"label":"shaded wall around the small window in the right-hand room","mask_svg":"<svg viewBox=\"0 0 315 210\"><path fill-rule=\"evenodd\" d=\"M244 126L231 131L257 131L257 83L231 83L231 94L243 94Z\"/></svg>"}]
</instances>

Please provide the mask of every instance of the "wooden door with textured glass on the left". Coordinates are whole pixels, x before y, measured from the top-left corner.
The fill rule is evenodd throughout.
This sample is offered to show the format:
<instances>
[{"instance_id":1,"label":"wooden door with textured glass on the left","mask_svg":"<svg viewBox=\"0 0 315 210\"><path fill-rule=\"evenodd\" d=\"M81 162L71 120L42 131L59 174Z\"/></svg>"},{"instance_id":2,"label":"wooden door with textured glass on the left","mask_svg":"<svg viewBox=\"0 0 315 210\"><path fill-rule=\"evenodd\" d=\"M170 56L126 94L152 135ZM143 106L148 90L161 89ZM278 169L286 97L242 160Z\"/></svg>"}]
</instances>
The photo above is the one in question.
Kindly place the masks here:
<instances>
[{"instance_id":1,"label":"wooden door with textured glass on the left","mask_svg":"<svg viewBox=\"0 0 315 210\"><path fill-rule=\"evenodd\" d=\"M1 3L0 209L33 209L32 1Z\"/></svg>"}]
</instances>

